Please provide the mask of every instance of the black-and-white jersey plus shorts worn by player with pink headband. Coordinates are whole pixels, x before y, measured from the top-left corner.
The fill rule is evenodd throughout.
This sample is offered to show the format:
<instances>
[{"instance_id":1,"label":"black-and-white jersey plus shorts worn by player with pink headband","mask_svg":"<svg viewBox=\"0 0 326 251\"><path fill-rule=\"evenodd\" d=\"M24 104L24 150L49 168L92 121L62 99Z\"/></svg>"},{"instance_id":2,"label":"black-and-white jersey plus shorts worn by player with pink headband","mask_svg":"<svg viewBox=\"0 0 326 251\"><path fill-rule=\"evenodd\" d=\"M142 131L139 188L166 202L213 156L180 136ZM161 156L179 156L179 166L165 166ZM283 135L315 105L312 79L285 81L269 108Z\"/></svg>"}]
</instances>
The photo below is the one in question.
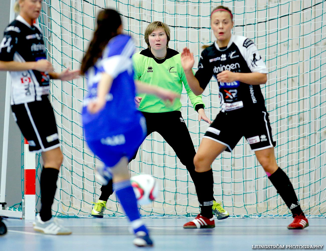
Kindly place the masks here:
<instances>
[{"instance_id":1,"label":"black-and-white jersey plus shorts worn by player with pink headband","mask_svg":"<svg viewBox=\"0 0 326 251\"><path fill-rule=\"evenodd\" d=\"M206 48L199 61L196 78L205 89L212 78L222 71L268 73L254 42L242 36L232 35L226 48L215 42ZM221 112L207 129L204 138L226 146L231 152L244 136L254 151L274 147L272 129L265 101L259 85L240 81L218 83Z\"/></svg>"}]
</instances>

